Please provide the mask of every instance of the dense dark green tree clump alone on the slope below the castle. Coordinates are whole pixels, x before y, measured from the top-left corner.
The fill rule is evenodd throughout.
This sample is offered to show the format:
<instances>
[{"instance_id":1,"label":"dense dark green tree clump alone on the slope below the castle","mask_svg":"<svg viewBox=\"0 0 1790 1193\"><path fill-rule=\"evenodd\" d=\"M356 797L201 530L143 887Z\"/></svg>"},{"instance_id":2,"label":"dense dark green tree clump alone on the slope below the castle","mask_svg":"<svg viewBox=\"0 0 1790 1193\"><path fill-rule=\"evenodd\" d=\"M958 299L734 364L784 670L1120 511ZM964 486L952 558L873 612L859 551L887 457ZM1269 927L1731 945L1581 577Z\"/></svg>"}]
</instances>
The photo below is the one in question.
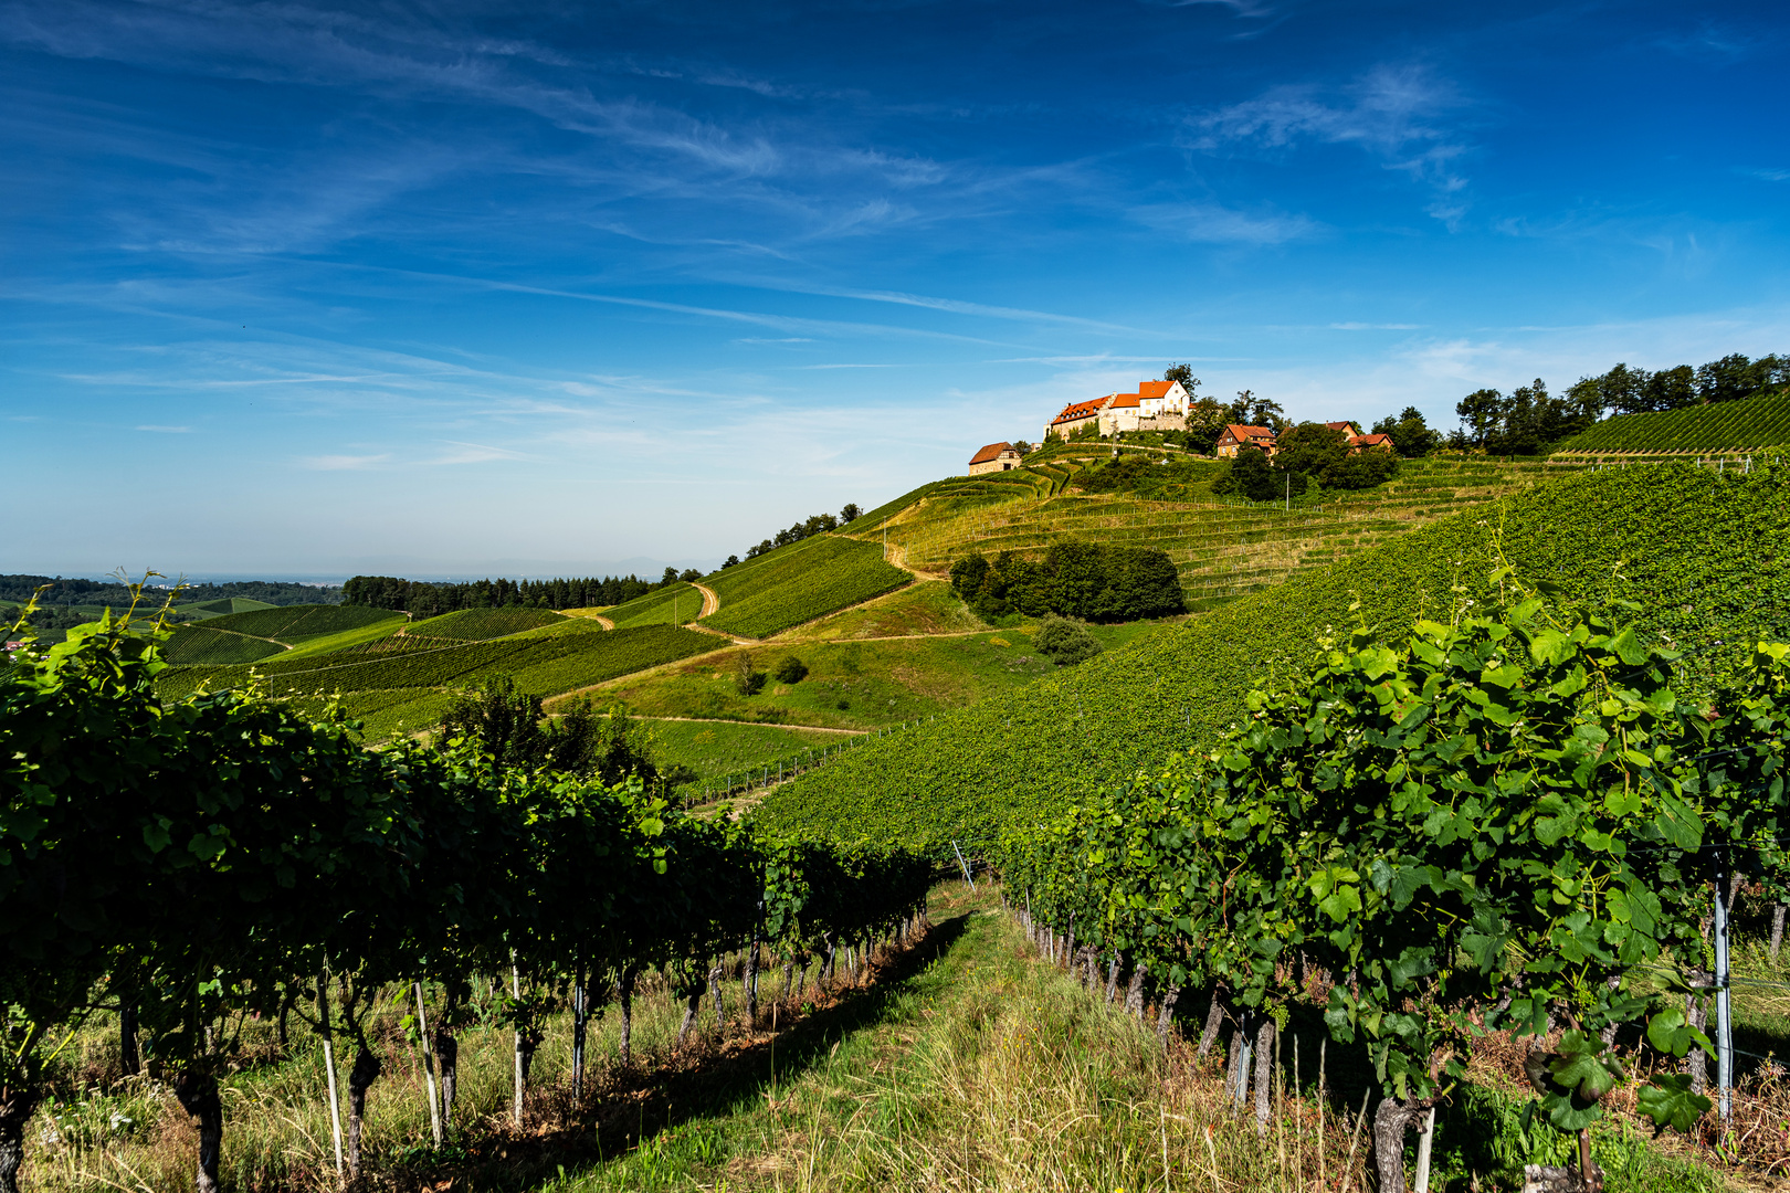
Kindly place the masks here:
<instances>
[{"instance_id":1,"label":"dense dark green tree clump alone on the slope below the castle","mask_svg":"<svg viewBox=\"0 0 1790 1193\"><path fill-rule=\"evenodd\" d=\"M1165 553L1099 542L1053 542L1036 563L1013 551L972 553L950 565L950 587L988 622L1010 613L1135 621L1187 608Z\"/></svg>"}]
</instances>

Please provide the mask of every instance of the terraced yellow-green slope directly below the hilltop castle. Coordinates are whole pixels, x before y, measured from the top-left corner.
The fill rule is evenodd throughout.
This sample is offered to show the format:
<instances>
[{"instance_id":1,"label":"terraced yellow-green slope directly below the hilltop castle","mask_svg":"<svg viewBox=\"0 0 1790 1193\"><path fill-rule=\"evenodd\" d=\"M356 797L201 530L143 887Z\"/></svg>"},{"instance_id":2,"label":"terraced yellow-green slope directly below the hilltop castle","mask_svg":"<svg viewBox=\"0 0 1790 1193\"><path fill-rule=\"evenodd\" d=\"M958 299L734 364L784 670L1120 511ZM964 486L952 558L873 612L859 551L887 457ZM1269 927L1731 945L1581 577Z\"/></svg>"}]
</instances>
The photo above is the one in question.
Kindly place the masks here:
<instances>
[{"instance_id":1,"label":"terraced yellow-green slope directly below the hilltop castle","mask_svg":"<svg viewBox=\"0 0 1790 1193\"><path fill-rule=\"evenodd\" d=\"M1153 547L1174 560L1189 606L1208 608L1581 467L1416 460L1380 488L1291 512L1273 503L1140 501L1074 488L1042 494L1036 483L1008 479L1031 472L1019 469L922 487L859 519L852 533L881 542L886 531L902 563L933 574L945 574L970 551L1036 554L1061 538Z\"/></svg>"}]
</instances>

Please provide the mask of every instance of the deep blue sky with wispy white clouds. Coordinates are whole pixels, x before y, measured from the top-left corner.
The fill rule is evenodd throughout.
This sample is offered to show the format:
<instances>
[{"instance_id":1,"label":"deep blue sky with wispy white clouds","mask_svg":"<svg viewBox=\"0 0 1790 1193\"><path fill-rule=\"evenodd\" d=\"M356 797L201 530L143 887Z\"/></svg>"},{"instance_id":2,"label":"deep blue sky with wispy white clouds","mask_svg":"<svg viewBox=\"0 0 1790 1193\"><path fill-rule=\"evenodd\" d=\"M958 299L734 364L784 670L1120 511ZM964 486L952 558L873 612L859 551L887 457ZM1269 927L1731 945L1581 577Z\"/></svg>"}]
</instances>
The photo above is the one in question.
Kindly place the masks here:
<instances>
[{"instance_id":1,"label":"deep blue sky with wispy white clouds","mask_svg":"<svg viewBox=\"0 0 1790 1193\"><path fill-rule=\"evenodd\" d=\"M1777 5L0 0L0 571L707 567L1171 361L1453 426L1790 351L1786 41Z\"/></svg>"}]
</instances>

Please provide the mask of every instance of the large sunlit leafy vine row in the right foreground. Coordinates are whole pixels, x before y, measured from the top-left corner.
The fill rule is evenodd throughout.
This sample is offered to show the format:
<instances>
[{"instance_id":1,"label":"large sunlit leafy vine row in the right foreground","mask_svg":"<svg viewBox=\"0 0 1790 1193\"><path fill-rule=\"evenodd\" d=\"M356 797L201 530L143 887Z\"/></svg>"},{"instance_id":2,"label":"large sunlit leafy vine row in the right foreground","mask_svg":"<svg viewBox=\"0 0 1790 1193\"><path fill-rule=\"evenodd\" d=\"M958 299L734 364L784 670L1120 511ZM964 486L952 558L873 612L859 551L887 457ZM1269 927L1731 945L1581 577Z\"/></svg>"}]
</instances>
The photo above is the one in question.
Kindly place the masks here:
<instances>
[{"instance_id":1,"label":"large sunlit leafy vine row in the right foreground","mask_svg":"<svg viewBox=\"0 0 1790 1193\"><path fill-rule=\"evenodd\" d=\"M1212 753L1002 846L1036 923L1156 982L1164 1027L1181 989L1214 991L1203 1046L1228 1012L1271 1048L1317 991L1382 1087L1389 1193L1405 1129L1489 1030L1529 1039L1529 1116L1579 1136L1598 1188L1590 1127L1627 1080L1624 1028L1668 1057L1708 1045L1677 975L1706 964L1724 859L1790 873L1790 646L1760 644L1695 708L1672 690L1677 655L1507 567L1493 583L1489 612L1326 642ZM1709 1107L1672 1071L1638 1104L1679 1130Z\"/></svg>"}]
</instances>

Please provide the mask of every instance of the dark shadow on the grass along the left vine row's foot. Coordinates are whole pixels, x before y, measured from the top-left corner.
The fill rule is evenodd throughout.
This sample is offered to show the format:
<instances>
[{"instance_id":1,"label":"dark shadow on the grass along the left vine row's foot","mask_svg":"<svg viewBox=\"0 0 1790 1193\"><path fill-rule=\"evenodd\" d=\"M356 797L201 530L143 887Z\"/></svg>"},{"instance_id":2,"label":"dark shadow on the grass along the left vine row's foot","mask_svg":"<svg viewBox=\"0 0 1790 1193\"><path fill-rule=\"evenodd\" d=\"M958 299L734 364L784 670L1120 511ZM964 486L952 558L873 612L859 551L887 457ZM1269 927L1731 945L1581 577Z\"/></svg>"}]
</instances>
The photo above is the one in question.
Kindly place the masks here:
<instances>
[{"instance_id":1,"label":"dark shadow on the grass along the left vine row's foot","mask_svg":"<svg viewBox=\"0 0 1790 1193\"><path fill-rule=\"evenodd\" d=\"M451 1154L421 1154L381 1173L379 1182L406 1191L526 1189L550 1179L578 1177L684 1123L737 1114L766 1098L773 1082L784 1086L800 1079L825 1062L841 1039L882 1021L915 975L956 944L970 914L934 923L911 948L884 953L872 966L866 986L827 991L820 1000L804 998L818 1003L816 1009L775 1036L768 1030L736 1036L732 1032L741 1028L730 1025L721 1041L675 1053L659 1068L592 1073L596 1087L582 1105L571 1107L566 1091L557 1091L555 1125L537 1134L467 1139ZM779 1005L782 1023L788 1012L786 1000ZM768 1023L770 1011L763 1009L761 1028Z\"/></svg>"}]
</instances>

